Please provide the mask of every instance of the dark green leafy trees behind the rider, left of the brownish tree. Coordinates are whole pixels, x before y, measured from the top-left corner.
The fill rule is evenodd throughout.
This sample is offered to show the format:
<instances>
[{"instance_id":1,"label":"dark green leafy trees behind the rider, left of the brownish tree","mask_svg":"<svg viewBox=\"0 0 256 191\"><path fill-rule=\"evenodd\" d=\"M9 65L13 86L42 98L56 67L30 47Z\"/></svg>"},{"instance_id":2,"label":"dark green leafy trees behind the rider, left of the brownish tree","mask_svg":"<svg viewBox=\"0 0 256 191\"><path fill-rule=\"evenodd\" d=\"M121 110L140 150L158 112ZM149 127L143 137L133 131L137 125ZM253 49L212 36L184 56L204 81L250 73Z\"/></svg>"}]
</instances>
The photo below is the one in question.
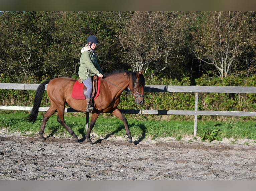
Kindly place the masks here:
<instances>
[{"instance_id":1,"label":"dark green leafy trees behind the rider, left of the brownish tree","mask_svg":"<svg viewBox=\"0 0 256 191\"><path fill-rule=\"evenodd\" d=\"M104 11L6 11L0 15L0 72L24 82L76 77L81 49L89 35L99 38L99 63L110 71L118 56L117 12Z\"/></svg>"}]
</instances>

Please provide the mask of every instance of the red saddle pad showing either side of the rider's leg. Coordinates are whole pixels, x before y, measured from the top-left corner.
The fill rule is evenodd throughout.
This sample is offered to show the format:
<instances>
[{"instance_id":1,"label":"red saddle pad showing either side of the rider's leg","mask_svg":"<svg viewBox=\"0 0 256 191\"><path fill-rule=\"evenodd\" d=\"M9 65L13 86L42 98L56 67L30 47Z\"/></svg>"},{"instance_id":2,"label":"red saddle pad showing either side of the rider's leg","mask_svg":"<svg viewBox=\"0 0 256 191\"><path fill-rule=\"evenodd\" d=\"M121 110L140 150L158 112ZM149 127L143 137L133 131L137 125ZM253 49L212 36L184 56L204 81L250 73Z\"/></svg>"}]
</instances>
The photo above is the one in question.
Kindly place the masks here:
<instances>
[{"instance_id":1,"label":"red saddle pad showing either side of the rider's leg","mask_svg":"<svg viewBox=\"0 0 256 191\"><path fill-rule=\"evenodd\" d=\"M73 99L85 99L87 88L81 81L81 79L77 80L73 86L72 90L72 98ZM92 91L92 99L96 99L100 94L100 78L98 76L93 77L93 91Z\"/></svg>"}]
</instances>

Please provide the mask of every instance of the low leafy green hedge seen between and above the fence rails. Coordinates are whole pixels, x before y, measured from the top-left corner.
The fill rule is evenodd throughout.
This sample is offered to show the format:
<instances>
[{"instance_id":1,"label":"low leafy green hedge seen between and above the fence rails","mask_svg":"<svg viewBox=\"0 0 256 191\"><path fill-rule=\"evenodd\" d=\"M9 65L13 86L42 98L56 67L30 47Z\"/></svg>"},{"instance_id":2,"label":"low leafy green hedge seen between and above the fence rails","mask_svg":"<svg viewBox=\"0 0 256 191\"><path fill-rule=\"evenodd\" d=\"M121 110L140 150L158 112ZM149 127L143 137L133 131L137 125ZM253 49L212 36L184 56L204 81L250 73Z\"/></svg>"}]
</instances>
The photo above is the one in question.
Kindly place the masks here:
<instances>
[{"instance_id":1,"label":"low leafy green hedge seen between and above the fence rails","mask_svg":"<svg viewBox=\"0 0 256 191\"><path fill-rule=\"evenodd\" d=\"M10 77L2 75L0 83L11 83ZM181 81L176 79L168 80L166 78L158 79L146 78L146 85L171 85L171 86L189 86L191 81L188 77L182 78ZM45 79L48 79L46 76ZM252 77L226 77L226 78L209 78L204 75L197 79L198 86L255 86L256 75ZM36 79L28 79L25 83L41 83L36 82ZM0 89L1 105L20 105L32 106L34 99L34 90L5 90ZM256 110L256 94L225 94L225 93L200 93L198 110L219 110L219 111L255 111ZM46 92L43 94L41 106L49 106L49 99ZM193 93L168 93L168 92L145 92L145 103L136 105L131 94L123 92L119 109L160 109L160 110L194 110L195 109L195 94ZM128 117L134 115L127 114ZM137 117L137 115L136 115ZM143 118L162 118L163 116L156 115L140 115ZM186 115L171 115L164 116L168 119L193 119L194 116ZM204 118L213 119L220 116L204 116ZM223 116L221 116L223 117ZM202 116L199 116L199 119ZM244 117L246 118L246 117Z\"/></svg>"}]
</instances>

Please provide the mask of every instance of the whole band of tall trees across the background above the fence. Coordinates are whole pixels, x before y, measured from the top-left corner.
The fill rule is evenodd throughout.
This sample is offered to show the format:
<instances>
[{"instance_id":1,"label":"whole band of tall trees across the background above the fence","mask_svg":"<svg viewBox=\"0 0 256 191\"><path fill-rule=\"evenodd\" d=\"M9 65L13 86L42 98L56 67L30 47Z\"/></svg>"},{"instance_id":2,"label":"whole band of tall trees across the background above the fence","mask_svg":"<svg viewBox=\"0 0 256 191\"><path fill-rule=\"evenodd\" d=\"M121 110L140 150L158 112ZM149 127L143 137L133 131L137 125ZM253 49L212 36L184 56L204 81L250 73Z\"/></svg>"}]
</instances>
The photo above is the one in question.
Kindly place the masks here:
<instances>
[{"instance_id":1,"label":"whole band of tall trees across the background above the fence","mask_svg":"<svg viewBox=\"0 0 256 191\"><path fill-rule=\"evenodd\" d=\"M255 11L1 11L0 73L13 83L77 78L80 50L94 34L105 73L250 76L256 71L254 21Z\"/></svg>"}]
</instances>

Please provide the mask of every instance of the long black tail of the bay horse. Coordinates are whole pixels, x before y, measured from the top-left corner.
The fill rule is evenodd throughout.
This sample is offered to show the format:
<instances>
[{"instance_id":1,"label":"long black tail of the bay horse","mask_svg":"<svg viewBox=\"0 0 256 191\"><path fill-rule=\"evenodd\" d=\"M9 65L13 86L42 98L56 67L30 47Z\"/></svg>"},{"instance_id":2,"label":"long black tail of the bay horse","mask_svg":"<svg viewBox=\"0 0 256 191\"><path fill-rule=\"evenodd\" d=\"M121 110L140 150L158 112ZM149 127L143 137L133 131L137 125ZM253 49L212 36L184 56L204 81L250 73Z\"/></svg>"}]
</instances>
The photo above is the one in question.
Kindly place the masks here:
<instances>
[{"instance_id":1,"label":"long black tail of the bay horse","mask_svg":"<svg viewBox=\"0 0 256 191\"><path fill-rule=\"evenodd\" d=\"M30 112L30 114L27 117L24 118L28 122L32 122L32 123L35 122L35 120L37 118L37 114L38 114L38 109L41 104L42 95L44 93L45 85L48 84L49 82L50 82L49 80L44 81L42 84L40 84L38 86L36 93L35 93L34 105L33 105L32 111Z\"/></svg>"}]
</instances>

